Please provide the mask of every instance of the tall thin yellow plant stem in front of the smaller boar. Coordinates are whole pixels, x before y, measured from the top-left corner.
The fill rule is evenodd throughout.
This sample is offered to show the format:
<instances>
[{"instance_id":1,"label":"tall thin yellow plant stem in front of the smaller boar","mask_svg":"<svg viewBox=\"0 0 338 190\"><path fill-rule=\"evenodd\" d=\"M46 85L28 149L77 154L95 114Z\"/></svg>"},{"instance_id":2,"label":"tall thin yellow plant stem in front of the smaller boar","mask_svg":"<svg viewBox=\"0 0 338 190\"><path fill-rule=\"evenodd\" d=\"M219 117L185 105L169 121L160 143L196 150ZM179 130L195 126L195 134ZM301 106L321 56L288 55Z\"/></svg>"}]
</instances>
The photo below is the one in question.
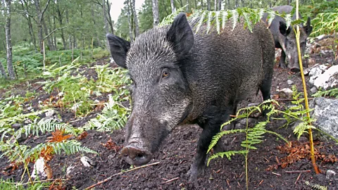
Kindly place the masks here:
<instances>
[{"instance_id":1,"label":"tall thin yellow plant stem in front of the smaller boar","mask_svg":"<svg viewBox=\"0 0 338 190\"><path fill-rule=\"evenodd\" d=\"M299 1L296 1L296 20L299 19ZM309 110L308 108L308 93L306 91L306 82L303 72L303 63L301 61L301 46L299 44L299 37L300 37L300 31L299 31L299 25L296 26L296 44L297 44L297 51L298 51L298 61L299 61L299 68L301 69L301 81L303 82L303 91L304 91L304 101L305 101L305 108L306 110ZM310 113L307 111L306 116L310 118ZM308 123L308 125L311 125L311 123ZM313 165L313 169L315 170L316 174L320 174L320 170L318 169L316 163L315 163L315 151L313 148L313 136L312 136L312 129L308 129L308 138L310 140L310 148L311 148L311 161Z\"/></svg>"}]
</instances>

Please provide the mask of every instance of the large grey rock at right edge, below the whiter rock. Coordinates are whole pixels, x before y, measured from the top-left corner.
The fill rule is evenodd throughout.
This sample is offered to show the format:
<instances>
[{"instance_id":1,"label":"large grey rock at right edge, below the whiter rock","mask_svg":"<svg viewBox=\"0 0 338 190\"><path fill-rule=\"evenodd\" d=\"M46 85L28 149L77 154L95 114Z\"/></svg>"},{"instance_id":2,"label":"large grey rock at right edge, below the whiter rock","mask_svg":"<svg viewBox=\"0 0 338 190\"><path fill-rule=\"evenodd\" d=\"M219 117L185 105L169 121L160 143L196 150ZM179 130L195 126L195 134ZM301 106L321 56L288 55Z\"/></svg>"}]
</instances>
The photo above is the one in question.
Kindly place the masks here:
<instances>
[{"instance_id":1,"label":"large grey rock at right edge, below the whiter rock","mask_svg":"<svg viewBox=\"0 0 338 190\"><path fill-rule=\"evenodd\" d=\"M313 101L313 126L338 138L338 99L315 98Z\"/></svg>"}]
</instances>

